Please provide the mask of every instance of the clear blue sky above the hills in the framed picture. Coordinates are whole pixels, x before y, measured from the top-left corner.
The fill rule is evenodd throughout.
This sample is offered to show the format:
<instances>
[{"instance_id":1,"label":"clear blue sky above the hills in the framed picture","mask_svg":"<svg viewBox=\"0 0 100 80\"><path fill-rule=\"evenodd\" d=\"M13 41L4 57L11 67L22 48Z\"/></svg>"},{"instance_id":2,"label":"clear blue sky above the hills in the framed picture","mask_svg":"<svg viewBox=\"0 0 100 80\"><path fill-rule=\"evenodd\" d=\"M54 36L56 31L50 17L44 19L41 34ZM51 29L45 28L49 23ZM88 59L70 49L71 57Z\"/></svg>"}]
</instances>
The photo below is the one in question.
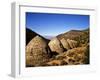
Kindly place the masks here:
<instances>
[{"instance_id":1,"label":"clear blue sky above the hills in the framed picture","mask_svg":"<svg viewBox=\"0 0 100 80\"><path fill-rule=\"evenodd\" d=\"M26 12L26 27L40 35L56 36L89 27L89 15Z\"/></svg>"}]
</instances>

